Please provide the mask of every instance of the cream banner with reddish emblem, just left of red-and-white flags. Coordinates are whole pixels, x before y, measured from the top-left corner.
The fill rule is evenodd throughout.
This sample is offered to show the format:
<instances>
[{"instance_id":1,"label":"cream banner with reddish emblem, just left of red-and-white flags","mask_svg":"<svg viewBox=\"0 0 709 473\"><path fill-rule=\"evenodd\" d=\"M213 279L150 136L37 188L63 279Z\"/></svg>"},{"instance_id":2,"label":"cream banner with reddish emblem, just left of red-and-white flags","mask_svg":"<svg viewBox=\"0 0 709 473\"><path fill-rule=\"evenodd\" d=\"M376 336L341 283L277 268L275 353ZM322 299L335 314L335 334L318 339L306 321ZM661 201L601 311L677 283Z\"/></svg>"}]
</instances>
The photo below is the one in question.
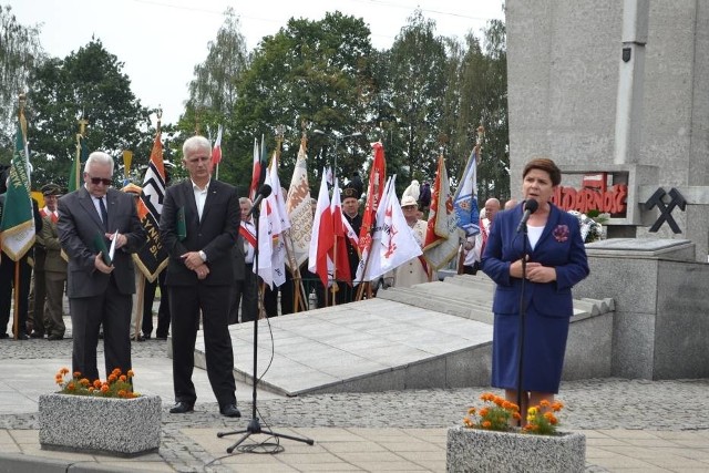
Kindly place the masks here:
<instances>
[{"instance_id":1,"label":"cream banner with reddish emblem, just left of red-and-white flags","mask_svg":"<svg viewBox=\"0 0 709 473\"><path fill-rule=\"evenodd\" d=\"M312 234L312 207L310 205L310 186L308 185L306 144L300 141L298 160L292 169L286 212L290 218L290 238L292 240L292 258L300 267L308 259L310 236ZM286 261L290 263L290 261ZM290 265L288 265L290 266ZM290 268L291 270L295 268Z\"/></svg>"}]
</instances>

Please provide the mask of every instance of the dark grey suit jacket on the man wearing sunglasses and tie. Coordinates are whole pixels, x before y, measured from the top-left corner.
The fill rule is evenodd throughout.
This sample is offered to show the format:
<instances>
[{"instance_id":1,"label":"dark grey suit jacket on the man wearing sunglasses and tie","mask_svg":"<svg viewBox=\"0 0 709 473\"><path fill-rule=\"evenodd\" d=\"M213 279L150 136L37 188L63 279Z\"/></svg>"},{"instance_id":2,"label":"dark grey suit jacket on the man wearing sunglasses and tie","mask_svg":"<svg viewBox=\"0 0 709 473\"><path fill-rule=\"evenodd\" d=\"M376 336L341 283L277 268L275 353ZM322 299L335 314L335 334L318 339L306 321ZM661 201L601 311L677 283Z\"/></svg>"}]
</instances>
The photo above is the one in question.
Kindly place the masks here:
<instances>
[{"instance_id":1,"label":"dark grey suit jacket on the man wearing sunglasses and tie","mask_svg":"<svg viewBox=\"0 0 709 473\"><path fill-rule=\"evenodd\" d=\"M104 234L101 217L93 205L91 195L81 187L59 199L59 239L69 256L69 297L93 297L106 290L111 275L95 269L94 259L99 253L94 245L96 234ZM133 197L110 188L106 194L109 232L119 230L125 235L127 244L115 251L113 275L122 294L135 292L135 273L131 253L145 244L145 229L137 218ZM106 240L106 245L110 241Z\"/></svg>"}]
</instances>

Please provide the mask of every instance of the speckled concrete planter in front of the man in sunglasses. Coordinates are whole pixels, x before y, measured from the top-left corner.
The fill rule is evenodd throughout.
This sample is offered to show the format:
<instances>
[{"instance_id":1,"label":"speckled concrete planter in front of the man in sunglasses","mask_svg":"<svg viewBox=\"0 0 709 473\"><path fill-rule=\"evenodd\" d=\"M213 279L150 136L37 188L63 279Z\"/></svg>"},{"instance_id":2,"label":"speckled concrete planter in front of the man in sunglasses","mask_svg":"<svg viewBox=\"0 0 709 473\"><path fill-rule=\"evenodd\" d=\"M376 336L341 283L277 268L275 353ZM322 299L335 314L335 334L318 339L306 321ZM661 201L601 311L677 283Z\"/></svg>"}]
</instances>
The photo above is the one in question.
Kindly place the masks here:
<instances>
[{"instance_id":1,"label":"speckled concrete planter in front of the man in sunglasses","mask_svg":"<svg viewBox=\"0 0 709 473\"><path fill-rule=\"evenodd\" d=\"M161 399L43 394L39 400L44 450L136 456L160 448Z\"/></svg>"}]
</instances>

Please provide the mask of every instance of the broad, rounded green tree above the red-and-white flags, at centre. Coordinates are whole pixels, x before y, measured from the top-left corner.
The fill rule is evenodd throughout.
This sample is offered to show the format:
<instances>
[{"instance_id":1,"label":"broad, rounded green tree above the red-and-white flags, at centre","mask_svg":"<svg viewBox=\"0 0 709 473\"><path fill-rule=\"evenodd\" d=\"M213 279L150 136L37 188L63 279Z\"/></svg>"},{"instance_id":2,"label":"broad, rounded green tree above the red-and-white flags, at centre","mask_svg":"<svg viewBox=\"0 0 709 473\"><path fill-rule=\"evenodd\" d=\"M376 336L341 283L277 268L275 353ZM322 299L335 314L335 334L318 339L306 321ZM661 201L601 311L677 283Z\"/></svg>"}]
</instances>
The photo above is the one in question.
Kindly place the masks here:
<instances>
[{"instance_id":1,"label":"broad, rounded green tree above the red-and-white flags, at centre","mask_svg":"<svg viewBox=\"0 0 709 473\"><path fill-rule=\"evenodd\" d=\"M310 172L319 175L332 164L333 153L338 153L338 175L351 176L361 168L371 154L367 124L374 97L369 35L362 19L333 12L320 21L290 19L286 28L261 40L239 83L229 126L235 131L234 155L242 156L240 168L230 169L236 182L247 185L249 181L254 137L265 134L273 150L268 144L274 143L279 124L285 126L284 185L292 173L304 122L330 136L310 135L308 147L316 152L308 163ZM363 136L339 141L339 150L333 150L332 136L354 132Z\"/></svg>"}]
</instances>

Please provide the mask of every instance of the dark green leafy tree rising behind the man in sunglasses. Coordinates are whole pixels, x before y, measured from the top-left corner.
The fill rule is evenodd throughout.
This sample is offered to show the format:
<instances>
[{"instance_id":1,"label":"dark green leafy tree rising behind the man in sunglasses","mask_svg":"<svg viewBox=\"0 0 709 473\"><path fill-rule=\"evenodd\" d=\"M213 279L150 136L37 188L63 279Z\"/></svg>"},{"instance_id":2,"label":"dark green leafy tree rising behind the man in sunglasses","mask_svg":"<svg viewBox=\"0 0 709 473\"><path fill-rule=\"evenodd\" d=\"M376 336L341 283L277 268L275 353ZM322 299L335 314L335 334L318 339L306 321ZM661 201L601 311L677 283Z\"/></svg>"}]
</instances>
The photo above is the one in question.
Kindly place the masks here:
<instances>
[{"instance_id":1,"label":"dark green leafy tree rising behind the man in sunglasses","mask_svg":"<svg viewBox=\"0 0 709 473\"><path fill-rule=\"evenodd\" d=\"M147 162L154 131L150 130L148 111L131 91L122 69L123 63L101 40L92 39L65 59L50 59L32 71L28 121L33 183L66 184L75 155L76 123L82 116L89 122L89 150L105 151L117 163L123 150L133 150L134 168Z\"/></svg>"}]
</instances>

